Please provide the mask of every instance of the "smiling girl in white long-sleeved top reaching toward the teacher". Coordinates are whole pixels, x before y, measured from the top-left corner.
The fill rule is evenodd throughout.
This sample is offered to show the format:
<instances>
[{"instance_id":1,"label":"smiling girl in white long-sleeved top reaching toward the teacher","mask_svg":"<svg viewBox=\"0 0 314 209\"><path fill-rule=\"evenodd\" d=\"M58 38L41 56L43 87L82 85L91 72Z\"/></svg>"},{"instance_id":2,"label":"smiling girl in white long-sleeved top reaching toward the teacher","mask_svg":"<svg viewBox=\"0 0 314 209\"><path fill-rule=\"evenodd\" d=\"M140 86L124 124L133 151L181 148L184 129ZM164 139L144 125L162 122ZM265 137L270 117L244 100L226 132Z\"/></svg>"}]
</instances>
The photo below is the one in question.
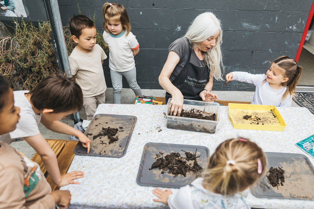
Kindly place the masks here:
<instances>
[{"instance_id":1,"label":"smiling girl in white long-sleeved top reaching toward the teacher","mask_svg":"<svg viewBox=\"0 0 314 209\"><path fill-rule=\"evenodd\" d=\"M290 107L301 73L302 67L294 59L281 56L273 61L266 75L231 72L226 79L254 84L256 89L251 104Z\"/></svg>"}]
</instances>

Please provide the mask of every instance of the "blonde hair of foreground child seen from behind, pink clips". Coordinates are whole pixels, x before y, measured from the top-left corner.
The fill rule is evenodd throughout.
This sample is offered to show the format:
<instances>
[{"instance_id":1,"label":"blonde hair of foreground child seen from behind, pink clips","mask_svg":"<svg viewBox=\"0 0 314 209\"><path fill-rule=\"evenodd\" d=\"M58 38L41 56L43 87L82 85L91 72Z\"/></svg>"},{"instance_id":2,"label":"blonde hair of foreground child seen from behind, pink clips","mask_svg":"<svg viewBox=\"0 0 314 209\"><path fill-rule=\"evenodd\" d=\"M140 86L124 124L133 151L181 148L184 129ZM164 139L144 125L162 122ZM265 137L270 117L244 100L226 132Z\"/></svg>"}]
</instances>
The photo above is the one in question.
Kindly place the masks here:
<instances>
[{"instance_id":1,"label":"blonde hair of foreground child seen from behind, pink clips","mask_svg":"<svg viewBox=\"0 0 314 209\"><path fill-rule=\"evenodd\" d=\"M258 172L258 160L261 172ZM248 140L229 139L219 144L203 172L203 185L209 191L234 195L254 184L266 171L262 149Z\"/></svg>"}]
</instances>

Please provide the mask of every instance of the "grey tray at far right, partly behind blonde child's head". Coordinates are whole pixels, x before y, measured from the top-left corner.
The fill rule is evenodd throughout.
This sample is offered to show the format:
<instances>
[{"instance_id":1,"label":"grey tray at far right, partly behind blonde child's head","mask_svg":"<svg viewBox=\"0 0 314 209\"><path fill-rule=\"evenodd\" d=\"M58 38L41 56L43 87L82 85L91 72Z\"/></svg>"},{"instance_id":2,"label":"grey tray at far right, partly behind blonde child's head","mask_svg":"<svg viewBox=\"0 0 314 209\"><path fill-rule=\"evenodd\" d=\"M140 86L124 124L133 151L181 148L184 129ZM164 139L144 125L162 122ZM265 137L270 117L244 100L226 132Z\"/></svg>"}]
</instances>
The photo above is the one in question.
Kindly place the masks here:
<instances>
[{"instance_id":1,"label":"grey tray at far right, partly behind blonde child's head","mask_svg":"<svg viewBox=\"0 0 314 209\"><path fill-rule=\"evenodd\" d=\"M295 200L314 200L314 168L303 154L265 152L268 168L282 167L285 170L283 186L273 187L267 177L262 177L250 187L256 197ZM290 176L290 177L289 177Z\"/></svg>"}]
</instances>

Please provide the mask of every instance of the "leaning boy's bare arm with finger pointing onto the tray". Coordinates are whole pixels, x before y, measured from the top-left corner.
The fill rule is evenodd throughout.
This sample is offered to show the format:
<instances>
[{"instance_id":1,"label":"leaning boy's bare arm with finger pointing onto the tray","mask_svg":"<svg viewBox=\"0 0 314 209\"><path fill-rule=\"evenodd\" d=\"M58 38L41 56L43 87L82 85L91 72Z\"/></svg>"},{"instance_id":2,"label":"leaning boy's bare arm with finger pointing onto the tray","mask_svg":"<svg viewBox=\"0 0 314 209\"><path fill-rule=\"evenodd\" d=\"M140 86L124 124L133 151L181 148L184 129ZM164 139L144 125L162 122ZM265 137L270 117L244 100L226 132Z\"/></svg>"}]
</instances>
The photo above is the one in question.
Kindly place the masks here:
<instances>
[{"instance_id":1,"label":"leaning boy's bare arm with finger pointing onto the tray","mask_svg":"<svg viewBox=\"0 0 314 209\"><path fill-rule=\"evenodd\" d=\"M80 140L80 142L82 142L82 145L87 148L87 153L89 153L90 140L87 136L84 135L84 133L65 123L62 123L61 121L47 120L45 118L45 115L41 116L41 123L51 131L76 136Z\"/></svg>"}]
</instances>

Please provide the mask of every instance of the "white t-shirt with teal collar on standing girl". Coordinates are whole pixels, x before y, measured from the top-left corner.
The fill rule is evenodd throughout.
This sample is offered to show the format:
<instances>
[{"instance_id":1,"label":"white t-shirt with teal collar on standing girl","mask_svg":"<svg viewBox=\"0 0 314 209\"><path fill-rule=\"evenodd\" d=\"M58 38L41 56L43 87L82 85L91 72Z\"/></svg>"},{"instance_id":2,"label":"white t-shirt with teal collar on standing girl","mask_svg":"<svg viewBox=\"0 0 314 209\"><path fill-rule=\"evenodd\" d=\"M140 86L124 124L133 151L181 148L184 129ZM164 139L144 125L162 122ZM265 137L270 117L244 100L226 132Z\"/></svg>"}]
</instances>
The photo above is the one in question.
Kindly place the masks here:
<instances>
[{"instance_id":1,"label":"white t-shirt with teal collar on standing girl","mask_svg":"<svg viewBox=\"0 0 314 209\"><path fill-rule=\"evenodd\" d=\"M125 72L135 67L133 50L138 49L139 44L135 35L125 31L119 35L113 35L104 31L103 37L109 47L109 68L117 72Z\"/></svg>"}]
</instances>

